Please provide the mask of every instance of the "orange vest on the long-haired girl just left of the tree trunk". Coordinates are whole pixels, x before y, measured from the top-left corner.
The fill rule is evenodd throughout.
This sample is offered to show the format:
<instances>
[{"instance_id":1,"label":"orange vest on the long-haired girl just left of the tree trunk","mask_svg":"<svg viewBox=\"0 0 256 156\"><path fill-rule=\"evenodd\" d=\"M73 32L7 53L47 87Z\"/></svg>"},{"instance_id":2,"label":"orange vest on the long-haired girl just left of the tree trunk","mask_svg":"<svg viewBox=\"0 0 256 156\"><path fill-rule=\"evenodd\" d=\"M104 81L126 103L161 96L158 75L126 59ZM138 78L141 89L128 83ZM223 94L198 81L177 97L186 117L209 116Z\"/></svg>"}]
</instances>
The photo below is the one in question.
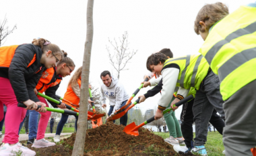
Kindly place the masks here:
<instances>
[{"instance_id":1,"label":"orange vest on the long-haired girl just left of the tree trunk","mask_svg":"<svg viewBox=\"0 0 256 156\"><path fill-rule=\"evenodd\" d=\"M81 88L81 79L77 79L77 84L79 84L79 88ZM75 92L73 92L71 86L67 87L67 92L64 95L65 100L69 100L72 104L79 104L80 98L76 96ZM65 102L65 104L68 104L69 106L72 106L71 104ZM72 106L75 108L75 106Z\"/></svg>"}]
</instances>

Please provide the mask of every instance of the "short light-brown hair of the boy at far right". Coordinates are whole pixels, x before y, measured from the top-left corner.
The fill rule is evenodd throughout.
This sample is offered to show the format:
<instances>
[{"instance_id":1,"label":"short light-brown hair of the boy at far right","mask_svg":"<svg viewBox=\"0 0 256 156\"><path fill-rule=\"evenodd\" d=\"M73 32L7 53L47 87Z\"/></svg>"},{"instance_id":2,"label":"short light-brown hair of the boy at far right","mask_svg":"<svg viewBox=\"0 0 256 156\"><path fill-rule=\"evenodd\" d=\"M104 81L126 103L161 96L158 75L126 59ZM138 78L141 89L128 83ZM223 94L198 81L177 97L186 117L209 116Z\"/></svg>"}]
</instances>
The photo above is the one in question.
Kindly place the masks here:
<instances>
[{"instance_id":1,"label":"short light-brown hair of the boy at far right","mask_svg":"<svg viewBox=\"0 0 256 156\"><path fill-rule=\"evenodd\" d=\"M217 2L214 4L204 5L197 14L195 18L194 30L197 35L200 32L205 32L206 29L210 29L214 23L220 21L228 15L228 7L223 3ZM206 27L202 27L199 21L203 21Z\"/></svg>"}]
</instances>

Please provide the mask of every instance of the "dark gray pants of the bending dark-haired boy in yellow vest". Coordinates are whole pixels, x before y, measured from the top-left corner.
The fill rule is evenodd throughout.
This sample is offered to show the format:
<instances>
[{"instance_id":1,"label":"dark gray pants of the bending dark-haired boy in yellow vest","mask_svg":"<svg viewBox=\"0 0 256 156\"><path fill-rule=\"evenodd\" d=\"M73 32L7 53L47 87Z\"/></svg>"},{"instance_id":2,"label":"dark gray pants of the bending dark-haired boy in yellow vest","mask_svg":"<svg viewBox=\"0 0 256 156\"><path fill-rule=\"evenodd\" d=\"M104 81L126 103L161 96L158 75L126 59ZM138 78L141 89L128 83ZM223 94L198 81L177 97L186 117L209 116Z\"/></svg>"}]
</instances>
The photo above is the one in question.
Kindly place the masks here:
<instances>
[{"instance_id":1,"label":"dark gray pants of the bending dark-haired boy in yellow vest","mask_svg":"<svg viewBox=\"0 0 256 156\"><path fill-rule=\"evenodd\" d=\"M220 80L214 72L210 71L195 94L192 107L195 121L195 146L204 145L207 141L208 123L215 110L225 118L222 95L220 94Z\"/></svg>"}]
</instances>

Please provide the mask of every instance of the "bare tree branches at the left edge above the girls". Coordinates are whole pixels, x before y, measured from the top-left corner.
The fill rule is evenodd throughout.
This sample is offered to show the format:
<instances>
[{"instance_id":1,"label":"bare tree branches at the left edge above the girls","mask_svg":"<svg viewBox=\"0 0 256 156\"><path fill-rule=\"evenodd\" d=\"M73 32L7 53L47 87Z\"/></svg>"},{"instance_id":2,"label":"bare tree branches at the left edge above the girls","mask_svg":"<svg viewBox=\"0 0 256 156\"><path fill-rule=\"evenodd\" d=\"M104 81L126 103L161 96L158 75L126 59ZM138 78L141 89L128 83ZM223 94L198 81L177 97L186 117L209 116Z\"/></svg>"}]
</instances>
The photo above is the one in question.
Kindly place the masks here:
<instances>
[{"instance_id":1,"label":"bare tree branches at the left edge above the girls","mask_svg":"<svg viewBox=\"0 0 256 156\"><path fill-rule=\"evenodd\" d=\"M3 19L3 21L0 21L0 47L3 44L3 40L5 40L7 35L12 33L14 29L17 29L16 24L11 29L9 29L9 27L6 24L7 24L7 18L5 15L5 18Z\"/></svg>"}]
</instances>

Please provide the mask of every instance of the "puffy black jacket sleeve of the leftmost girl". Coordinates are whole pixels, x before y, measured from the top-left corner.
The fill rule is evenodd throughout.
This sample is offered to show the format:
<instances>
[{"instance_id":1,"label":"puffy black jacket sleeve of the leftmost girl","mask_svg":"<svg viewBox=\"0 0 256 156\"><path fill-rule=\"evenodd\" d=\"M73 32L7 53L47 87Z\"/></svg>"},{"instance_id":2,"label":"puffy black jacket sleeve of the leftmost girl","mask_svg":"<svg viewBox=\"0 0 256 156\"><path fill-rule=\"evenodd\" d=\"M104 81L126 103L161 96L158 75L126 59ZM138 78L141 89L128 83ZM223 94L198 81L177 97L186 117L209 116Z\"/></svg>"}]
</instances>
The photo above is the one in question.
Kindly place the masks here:
<instances>
[{"instance_id":1,"label":"puffy black jacket sleeve of the leftmost girl","mask_svg":"<svg viewBox=\"0 0 256 156\"><path fill-rule=\"evenodd\" d=\"M34 47L28 45L18 46L9 66L9 80L18 102L30 99L24 72L34 58ZM36 86L34 86L36 87Z\"/></svg>"}]
</instances>

